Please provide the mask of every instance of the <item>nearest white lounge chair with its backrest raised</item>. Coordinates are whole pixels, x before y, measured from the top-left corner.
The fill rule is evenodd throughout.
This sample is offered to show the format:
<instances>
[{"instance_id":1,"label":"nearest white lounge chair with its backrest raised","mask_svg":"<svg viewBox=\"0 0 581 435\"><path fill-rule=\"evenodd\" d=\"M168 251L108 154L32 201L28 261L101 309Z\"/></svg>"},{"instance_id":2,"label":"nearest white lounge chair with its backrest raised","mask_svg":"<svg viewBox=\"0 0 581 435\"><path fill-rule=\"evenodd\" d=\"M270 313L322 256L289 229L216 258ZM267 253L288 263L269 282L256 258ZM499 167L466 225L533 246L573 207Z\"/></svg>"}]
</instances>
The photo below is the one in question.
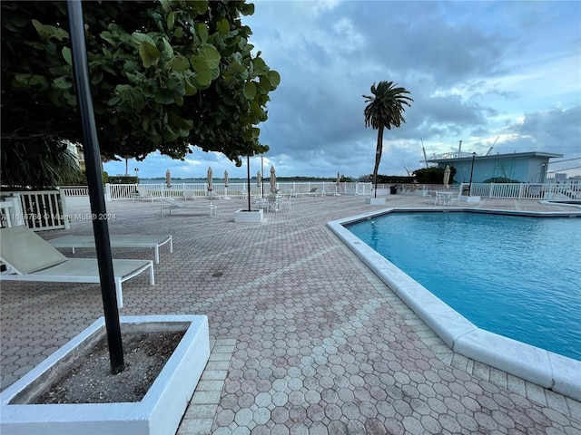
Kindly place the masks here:
<instances>
[{"instance_id":1,"label":"nearest white lounge chair with its backrest raised","mask_svg":"<svg viewBox=\"0 0 581 435\"><path fill-rule=\"evenodd\" d=\"M96 258L67 258L25 226L0 229L0 260L6 266L0 281L101 282ZM154 285L152 260L113 260L119 308L123 307L122 283L147 269Z\"/></svg>"}]
</instances>

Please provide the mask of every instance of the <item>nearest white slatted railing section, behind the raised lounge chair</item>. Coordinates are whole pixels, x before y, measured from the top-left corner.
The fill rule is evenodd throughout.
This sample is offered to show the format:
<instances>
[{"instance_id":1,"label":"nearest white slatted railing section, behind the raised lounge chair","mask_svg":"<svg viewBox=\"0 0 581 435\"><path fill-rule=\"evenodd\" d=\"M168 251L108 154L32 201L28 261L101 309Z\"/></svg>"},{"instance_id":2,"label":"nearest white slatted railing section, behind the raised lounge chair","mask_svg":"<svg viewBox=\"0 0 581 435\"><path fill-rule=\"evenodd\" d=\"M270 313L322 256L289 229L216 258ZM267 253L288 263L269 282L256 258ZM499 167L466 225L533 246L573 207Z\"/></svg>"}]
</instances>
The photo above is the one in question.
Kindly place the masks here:
<instances>
[{"instance_id":1,"label":"nearest white slatted railing section, behind the raised lounge chair","mask_svg":"<svg viewBox=\"0 0 581 435\"><path fill-rule=\"evenodd\" d=\"M2 227L25 225L34 231L70 227L64 192L33 190L2 192L0 207Z\"/></svg>"}]
</instances>

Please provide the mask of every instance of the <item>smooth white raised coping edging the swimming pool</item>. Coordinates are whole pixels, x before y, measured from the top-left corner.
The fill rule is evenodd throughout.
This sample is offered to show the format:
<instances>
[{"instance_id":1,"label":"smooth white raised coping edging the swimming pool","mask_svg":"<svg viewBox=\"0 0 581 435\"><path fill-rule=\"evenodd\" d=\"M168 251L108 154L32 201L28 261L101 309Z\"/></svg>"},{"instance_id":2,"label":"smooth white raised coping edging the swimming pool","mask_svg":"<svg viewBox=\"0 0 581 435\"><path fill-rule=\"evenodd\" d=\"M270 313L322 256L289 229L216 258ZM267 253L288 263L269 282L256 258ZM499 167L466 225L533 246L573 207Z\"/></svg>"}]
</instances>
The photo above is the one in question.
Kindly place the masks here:
<instances>
[{"instance_id":1,"label":"smooth white raised coping edging the swimming pool","mask_svg":"<svg viewBox=\"0 0 581 435\"><path fill-rule=\"evenodd\" d=\"M579 217L581 212L519 212L488 208L382 208L327 223L379 279L425 322L454 352L486 363L526 381L581 401L581 362L478 328L399 267L353 235L345 224L392 212L470 212L525 217Z\"/></svg>"}]
</instances>

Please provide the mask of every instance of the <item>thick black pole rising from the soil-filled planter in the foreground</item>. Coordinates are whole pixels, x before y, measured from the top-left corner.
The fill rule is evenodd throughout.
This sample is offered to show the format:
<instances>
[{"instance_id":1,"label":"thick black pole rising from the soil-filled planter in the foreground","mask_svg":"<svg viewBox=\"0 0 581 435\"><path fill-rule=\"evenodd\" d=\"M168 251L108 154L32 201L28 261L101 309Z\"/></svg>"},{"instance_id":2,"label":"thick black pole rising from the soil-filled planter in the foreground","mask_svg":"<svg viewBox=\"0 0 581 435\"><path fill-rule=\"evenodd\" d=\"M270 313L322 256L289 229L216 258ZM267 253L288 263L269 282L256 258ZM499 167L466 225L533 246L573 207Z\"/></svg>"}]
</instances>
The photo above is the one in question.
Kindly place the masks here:
<instances>
[{"instance_id":1,"label":"thick black pole rising from the soil-filled planter in the foreground","mask_svg":"<svg viewBox=\"0 0 581 435\"><path fill-rule=\"evenodd\" d=\"M119 310L117 309L117 295L113 277L113 259L109 240L109 227L103 195L103 174L101 172L101 152L97 129L94 122L93 99L87 68L87 50L84 42L83 5L81 0L69 0L67 3L69 24L71 27L71 46L73 53L74 81L76 82L76 98L79 104L79 113L83 124L84 161L93 214L94 242L97 252L97 264L101 279L101 295L103 297L103 312L111 372L123 372L123 343L121 340L121 325Z\"/></svg>"}]
</instances>

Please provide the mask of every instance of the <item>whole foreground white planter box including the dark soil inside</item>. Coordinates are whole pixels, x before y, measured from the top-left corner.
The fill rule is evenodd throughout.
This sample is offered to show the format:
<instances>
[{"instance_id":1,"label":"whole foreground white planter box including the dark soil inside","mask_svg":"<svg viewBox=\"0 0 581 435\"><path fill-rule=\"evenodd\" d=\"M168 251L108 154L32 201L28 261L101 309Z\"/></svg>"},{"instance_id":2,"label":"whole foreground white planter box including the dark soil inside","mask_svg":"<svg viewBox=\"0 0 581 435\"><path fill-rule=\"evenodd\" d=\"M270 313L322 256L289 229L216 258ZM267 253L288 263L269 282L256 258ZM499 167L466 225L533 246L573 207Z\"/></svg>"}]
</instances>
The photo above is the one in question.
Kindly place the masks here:
<instances>
[{"instance_id":1,"label":"whole foreground white planter box including the dark soil inside","mask_svg":"<svg viewBox=\"0 0 581 435\"><path fill-rule=\"evenodd\" d=\"M210 356L205 315L123 316L111 374L103 317L0 393L0 432L175 433Z\"/></svg>"}]
</instances>

